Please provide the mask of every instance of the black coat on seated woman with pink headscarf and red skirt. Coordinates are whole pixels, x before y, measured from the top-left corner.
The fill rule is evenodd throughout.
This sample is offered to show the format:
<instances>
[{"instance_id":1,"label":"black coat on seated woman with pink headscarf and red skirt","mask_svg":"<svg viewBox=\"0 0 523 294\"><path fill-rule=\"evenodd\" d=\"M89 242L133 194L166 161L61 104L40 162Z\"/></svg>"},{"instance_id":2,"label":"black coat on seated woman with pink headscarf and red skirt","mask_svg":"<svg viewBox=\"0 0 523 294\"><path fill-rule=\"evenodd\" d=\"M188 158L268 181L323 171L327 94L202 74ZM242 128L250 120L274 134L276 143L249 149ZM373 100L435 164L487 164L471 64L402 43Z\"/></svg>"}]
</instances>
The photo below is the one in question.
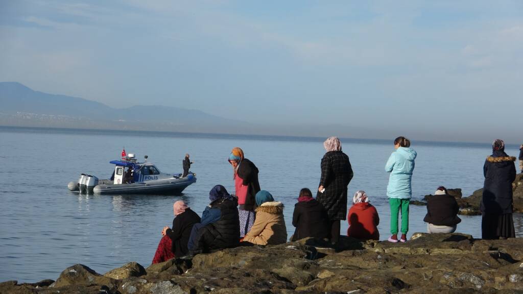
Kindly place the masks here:
<instances>
[{"instance_id":1,"label":"black coat on seated woman with pink headscarf and red skirt","mask_svg":"<svg viewBox=\"0 0 523 294\"><path fill-rule=\"evenodd\" d=\"M200 222L200 217L190 208L179 214L173 220L173 229L167 229L167 235L172 241L172 250L176 257L182 257L189 253L187 243L191 235L192 226Z\"/></svg>"}]
</instances>

